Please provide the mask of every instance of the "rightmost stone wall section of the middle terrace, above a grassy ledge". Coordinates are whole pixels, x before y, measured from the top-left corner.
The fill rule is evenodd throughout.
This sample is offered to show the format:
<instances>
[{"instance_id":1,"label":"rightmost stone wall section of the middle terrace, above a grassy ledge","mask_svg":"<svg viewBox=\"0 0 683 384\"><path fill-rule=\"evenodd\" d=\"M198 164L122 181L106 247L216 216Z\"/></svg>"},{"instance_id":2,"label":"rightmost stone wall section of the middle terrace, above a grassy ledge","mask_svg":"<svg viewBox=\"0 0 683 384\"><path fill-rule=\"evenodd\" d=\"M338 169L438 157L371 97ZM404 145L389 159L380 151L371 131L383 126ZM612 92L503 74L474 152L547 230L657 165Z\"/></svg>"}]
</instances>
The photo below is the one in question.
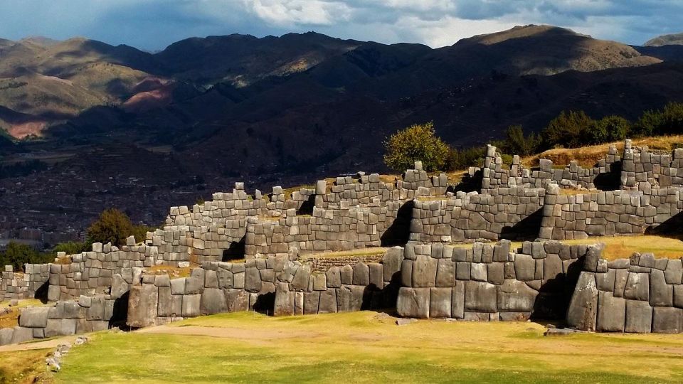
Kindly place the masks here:
<instances>
[{"instance_id":1,"label":"rightmost stone wall section of the middle terrace, above a grassy ledge","mask_svg":"<svg viewBox=\"0 0 683 384\"><path fill-rule=\"evenodd\" d=\"M667 223L683 211L681 188L599 191L563 196L549 184L539 238L565 240L588 236L634 235Z\"/></svg>"}]
</instances>

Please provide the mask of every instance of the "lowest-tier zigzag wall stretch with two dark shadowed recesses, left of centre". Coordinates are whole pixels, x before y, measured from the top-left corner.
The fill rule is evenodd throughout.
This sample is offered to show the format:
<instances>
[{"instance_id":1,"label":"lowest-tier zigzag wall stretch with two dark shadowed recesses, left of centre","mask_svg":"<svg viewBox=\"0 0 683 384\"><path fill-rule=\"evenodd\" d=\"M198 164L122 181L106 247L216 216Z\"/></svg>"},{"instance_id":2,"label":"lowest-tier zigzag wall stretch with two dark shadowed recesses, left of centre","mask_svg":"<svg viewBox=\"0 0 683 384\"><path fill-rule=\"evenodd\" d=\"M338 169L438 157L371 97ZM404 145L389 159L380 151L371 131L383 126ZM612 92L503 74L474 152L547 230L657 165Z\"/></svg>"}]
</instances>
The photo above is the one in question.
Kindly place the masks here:
<instances>
[{"instance_id":1,"label":"lowest-tier zigzag wall stretch with two dark shadowed recesses, left of centre","mask_svg":"<svg viewBox=\"0 0 683 384\"><path fill-rule=\"evenodd\" d=\"M290 260L290 257L293 260ZM233 311L316 314L393 308L403 249L382 262L314 270L296 255L271 255L245 262L205 262L190 277L144 274L132 285L127 324L165 324L175 319Z\"/></svg>"}]
</instances>

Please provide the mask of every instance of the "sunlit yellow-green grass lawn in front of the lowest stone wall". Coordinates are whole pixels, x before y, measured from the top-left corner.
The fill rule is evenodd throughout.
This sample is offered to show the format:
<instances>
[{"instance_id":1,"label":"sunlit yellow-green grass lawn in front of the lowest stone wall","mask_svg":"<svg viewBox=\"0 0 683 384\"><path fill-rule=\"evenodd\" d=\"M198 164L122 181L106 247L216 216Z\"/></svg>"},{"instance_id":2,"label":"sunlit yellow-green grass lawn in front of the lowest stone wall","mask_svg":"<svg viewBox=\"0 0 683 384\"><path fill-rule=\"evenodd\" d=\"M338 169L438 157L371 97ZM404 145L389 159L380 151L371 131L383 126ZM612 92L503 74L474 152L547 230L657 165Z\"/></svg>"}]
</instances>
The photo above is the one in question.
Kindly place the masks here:
<instances>
[{"instance_id":1,"label":"sunlit yellow-green grass lawn in front of the lowest stone wall","mask_svg":"<svg viewBox=\"0 0 683 384\"><path fill-rule=\"evenodd\" d=\"M524 322L425 320L396 326L391 317L369 311L281 318L219 314L144 332L95 334L87 345L72 349L54 378L58 383L683 380L682 335L545 337L543 331L544 326Z\"/></svg>"}]
</instances>

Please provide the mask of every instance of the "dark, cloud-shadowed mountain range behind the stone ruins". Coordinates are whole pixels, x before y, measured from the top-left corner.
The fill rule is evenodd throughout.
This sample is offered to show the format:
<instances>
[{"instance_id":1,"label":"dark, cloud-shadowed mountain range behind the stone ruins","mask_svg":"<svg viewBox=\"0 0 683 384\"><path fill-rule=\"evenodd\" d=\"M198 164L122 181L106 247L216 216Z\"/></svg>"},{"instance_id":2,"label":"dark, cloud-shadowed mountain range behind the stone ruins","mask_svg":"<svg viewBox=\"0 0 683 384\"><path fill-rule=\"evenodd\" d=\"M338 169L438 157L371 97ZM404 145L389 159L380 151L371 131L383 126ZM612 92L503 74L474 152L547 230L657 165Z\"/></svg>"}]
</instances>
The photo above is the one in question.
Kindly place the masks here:
<instances>
[{"instance_id":1,"label":"dark, cloud-shadowed mountain range behind the stone ruins","mask_svg":"<svg viewBox=\"0 0 683 384\"><path fill-rule=\"evenodd\" d=\"M534 25L435 49L313 32L188 38L159 53L0 40L0 153L43 161L47 175L201 176L207 189L383 171L383 141L413 123L472 146L510 124L537 131L561 110L635 119L683 101L674 41L628 46ZM139 156L124 166L102 151Z\"/></svg>"}]
</instances>

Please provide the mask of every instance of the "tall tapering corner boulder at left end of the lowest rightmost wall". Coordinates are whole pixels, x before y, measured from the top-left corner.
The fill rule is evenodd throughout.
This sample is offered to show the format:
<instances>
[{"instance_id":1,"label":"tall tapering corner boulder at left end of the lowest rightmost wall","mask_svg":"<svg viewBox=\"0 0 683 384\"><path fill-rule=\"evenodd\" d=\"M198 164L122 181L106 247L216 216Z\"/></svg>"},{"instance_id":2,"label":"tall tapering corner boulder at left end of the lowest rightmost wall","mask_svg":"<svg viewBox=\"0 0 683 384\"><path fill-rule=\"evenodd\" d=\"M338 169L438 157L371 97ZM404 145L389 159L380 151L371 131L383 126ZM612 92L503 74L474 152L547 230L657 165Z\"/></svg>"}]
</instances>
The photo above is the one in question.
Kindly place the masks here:
<instances>
[{"instance_id":1,"label":"tall tapering corner boulder at left end of the lowest rightmost wall","mask_svg":"<svg viewBox=\"0 0 683 384\"><path fill-rule=\"evenodd\" d=\"M595 274L581 272L567 310L567 325L582 331L595 331L598 314L598 287Z\"/></svg>"}]
</instances>

